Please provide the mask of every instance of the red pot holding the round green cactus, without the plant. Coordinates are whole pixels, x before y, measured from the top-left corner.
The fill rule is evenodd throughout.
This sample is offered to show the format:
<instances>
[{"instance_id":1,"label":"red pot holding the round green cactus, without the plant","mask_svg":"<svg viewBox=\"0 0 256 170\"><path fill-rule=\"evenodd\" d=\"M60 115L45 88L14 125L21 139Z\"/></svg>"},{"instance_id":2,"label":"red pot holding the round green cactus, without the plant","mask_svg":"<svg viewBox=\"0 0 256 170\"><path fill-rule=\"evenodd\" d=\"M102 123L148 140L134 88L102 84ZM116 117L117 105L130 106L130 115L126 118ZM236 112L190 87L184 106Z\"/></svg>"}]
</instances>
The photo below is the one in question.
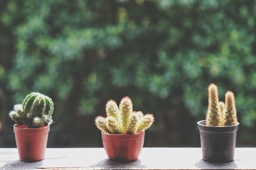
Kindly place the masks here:
<instances>
[{"instance_id":1,"label":"red pot holding the round green cactus, without the plant","mask_svg":"<svg viewBox=\"0 0 256 170\"><path fill-rule=\"evenodd\" d=\"M35 162L44 159L50 127L26 128L13 125L20 160Z\"/></svg>"}]
</instances>

